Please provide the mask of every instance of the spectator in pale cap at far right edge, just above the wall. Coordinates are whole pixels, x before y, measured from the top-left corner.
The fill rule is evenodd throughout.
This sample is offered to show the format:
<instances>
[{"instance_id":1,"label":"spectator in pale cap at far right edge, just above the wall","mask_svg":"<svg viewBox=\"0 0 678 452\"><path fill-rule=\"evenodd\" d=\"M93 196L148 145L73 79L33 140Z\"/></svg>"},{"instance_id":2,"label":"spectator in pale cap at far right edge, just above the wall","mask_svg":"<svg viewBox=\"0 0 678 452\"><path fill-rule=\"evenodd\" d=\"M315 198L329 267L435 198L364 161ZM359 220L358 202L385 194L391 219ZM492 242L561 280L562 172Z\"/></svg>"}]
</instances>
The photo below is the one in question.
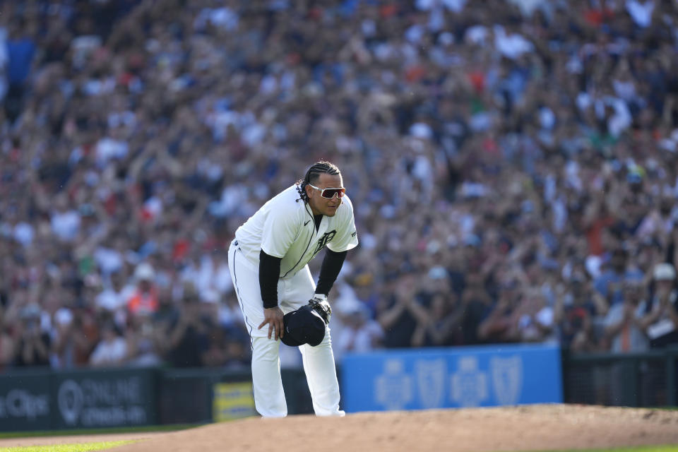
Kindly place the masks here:
<instances>
[{"instance_id":1,"label":"spectator in pale cap at far right edge, just above the wall","mask_svg":"<svg viewBox=\"0 0 678 452\"><path fill-rule=\"evenodd\" d=\"M650 347L678 344L678 290L676 270L671 263L658 263L653 269L653 295L646 302L642 320Z\"/></svg>"}]
</instances>

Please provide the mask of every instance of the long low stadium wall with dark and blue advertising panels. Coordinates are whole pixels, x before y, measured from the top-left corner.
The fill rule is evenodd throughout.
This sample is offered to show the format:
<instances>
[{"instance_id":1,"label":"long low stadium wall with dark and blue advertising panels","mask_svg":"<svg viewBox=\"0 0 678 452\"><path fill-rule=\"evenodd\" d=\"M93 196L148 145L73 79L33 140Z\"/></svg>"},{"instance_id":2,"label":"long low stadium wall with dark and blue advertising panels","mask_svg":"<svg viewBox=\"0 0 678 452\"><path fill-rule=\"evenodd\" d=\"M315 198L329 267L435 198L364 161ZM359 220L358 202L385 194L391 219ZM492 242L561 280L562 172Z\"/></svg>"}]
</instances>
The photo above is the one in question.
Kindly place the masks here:
<instances>
[{"instance_id":1,"label":"long low stadium wall with dark and blue advertising panels","mask_svg":"<svg viewBox=\"0 0 678 452\"><path fill-rule=\"evenodd\" d=\"M341 408L528 403L677 406L678 349L573 355L550 345L347 355ZM302 369L283 369L290 414L313 412ZM45 369L0 374L0 432L194 424L255 415L249 369Z\"/></svg>"}]
</instances>

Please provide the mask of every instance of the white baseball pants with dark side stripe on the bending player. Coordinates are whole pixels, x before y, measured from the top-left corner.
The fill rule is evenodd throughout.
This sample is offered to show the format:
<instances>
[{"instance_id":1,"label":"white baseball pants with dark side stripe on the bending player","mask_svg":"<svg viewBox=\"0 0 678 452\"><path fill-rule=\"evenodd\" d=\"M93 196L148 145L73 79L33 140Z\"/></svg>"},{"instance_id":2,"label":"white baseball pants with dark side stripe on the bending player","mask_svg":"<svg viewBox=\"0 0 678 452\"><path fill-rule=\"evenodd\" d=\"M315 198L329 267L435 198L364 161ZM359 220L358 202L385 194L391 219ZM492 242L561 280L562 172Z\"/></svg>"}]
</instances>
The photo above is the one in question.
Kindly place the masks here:
<instances>
[{"instance_id":1,"label":"white baseball pants with dark side stripe on the bending player","mask_svg":"<svg viewBox=\"0 0 678 452\"><path fill-rule=\"evenodd\" d=\"M240 309L245 319L252 344L252 383L254 405L263 417L287 416L287 403L280 378L279 340L268 339L268 325L257 329L263 322L263 301L259 288L258 268L244 256L232 242L228 249L228 264ZM278 306L284 314L307 304L315 293L316 285L306 266L291 278L278 280ZM325 338L316 347L304 344L302 352L304 372L309 383L313 408L318 416L343 416L339 410L339 383L332 352L329 326Z\"/></svg>"}]
</instances>

